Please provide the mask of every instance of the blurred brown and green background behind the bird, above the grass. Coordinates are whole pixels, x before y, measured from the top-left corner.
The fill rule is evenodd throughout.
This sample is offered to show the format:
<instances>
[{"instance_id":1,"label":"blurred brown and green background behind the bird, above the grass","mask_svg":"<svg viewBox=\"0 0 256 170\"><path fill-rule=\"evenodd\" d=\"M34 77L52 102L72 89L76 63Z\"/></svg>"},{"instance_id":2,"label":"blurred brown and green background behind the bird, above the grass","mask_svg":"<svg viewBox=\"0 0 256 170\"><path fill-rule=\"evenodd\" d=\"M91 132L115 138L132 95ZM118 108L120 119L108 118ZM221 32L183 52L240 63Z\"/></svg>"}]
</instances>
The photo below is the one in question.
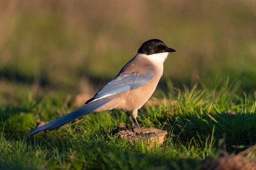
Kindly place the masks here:
<instances>
[{"instance_id":1,"label":"blurred brown and green background behind the bird, above the grass","mask_svg":"<svg viewBox=\"0 0 256 170\"><path fill-rule=\"evenodd\" d=\"M0 103L31 89L93 95L152 38L177 50L158 88L229 77L254 91L255 9L255 0L1 0Z\"/></svg>"}]
</instances>

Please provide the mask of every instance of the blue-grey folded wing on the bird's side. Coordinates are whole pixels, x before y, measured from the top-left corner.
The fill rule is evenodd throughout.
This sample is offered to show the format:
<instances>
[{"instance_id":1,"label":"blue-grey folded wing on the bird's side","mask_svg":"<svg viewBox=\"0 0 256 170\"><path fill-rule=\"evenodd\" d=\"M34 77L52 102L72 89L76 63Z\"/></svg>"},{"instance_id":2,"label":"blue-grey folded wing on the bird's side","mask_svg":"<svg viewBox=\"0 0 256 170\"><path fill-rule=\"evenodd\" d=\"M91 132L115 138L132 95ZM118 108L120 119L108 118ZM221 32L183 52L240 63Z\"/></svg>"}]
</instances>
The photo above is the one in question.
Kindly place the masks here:
<instances>
[{"instance_id":1,"label":"blue-grey folded wing on the bird's side","mask_svg":"<svg viewBox=\"0 0 256 170\"><path fill-rule=\"evenodd\" d=\"M85 104L92 102L100 97L130 91L147 84L154 76L154 69L150 68L146 73L124 73L120 72L115 79L110 80L108 84L103 86L96 95Z\"/></svg>"}]
</instances>

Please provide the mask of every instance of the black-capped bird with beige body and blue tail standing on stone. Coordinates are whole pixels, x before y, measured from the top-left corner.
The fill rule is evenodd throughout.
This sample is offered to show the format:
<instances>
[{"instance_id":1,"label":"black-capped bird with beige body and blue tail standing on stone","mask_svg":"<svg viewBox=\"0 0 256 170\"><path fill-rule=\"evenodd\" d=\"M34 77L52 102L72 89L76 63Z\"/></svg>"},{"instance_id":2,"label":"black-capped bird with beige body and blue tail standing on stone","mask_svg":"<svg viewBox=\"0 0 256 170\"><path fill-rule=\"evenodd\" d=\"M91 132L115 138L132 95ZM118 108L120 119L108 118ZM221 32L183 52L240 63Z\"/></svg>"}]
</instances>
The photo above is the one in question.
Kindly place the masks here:
<instances>
[{"instance_id":1,"label":"black-capped bird with beige body and blue tail standing on stone","mask_svg":"<svg viewBox=\"0 0 256 170\"><path fill-rule=\"evenodd\" d=\"M135 57L121 68L114 79L111 79L94 97L85 102L85 106L35 128L28 134L35 135L38 132L53 130L91 112L122 109L126 111L133 127L135 127L135 123L132 117L135 119L139 131L143 135L137 121L138 110L153 95L159 79L163 75L164 60L169 53L175 51L158 39L144 42ZM132 112L132 117L130 112Z\"/></svg>"}]
</instances>

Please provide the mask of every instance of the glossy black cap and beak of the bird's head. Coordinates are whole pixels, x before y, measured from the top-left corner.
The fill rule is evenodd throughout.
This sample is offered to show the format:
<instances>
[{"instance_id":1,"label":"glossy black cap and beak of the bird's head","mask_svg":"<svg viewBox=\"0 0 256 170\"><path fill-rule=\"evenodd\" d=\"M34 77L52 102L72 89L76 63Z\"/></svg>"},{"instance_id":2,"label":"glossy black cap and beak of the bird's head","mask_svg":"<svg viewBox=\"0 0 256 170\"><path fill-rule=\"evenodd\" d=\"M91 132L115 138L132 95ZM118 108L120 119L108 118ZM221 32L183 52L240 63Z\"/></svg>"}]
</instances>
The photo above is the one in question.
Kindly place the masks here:
<instances>
[{"instance_id":1,"label":"glossy black cap and beak of the bird's head","mask_svg":"<svg viewBox=\"0 0 256 170\"><path fill-rule=\"evenodd\" d=\"M171 53L175 52L175 49L168 48L164 42L158 39L152 39L144 42L139 50L138 53L151 55L157 53Z\"/></svg>"}]
</instances>

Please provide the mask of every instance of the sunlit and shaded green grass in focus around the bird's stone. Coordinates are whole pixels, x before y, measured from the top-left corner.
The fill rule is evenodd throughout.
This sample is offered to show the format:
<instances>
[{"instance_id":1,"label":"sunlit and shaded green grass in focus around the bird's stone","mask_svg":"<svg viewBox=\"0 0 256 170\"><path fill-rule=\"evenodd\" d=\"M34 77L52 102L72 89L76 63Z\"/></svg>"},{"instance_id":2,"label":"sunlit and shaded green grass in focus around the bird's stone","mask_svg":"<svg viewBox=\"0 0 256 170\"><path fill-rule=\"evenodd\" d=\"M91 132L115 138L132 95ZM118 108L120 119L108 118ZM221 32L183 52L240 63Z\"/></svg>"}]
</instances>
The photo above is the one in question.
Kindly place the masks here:
<instances>
[{"instance_id":1,"label":"sunlit and shaded green grass in focus around the bird's stone","mask_svg":"<svg viewBox=\"0 0 256 170\"><path fill-rule=\"evenodd\" d=\"M255 94L238 93L239 84L228 81L213 89L167 84L167 95L159 91L155 99L170 102L143 107L138 116L145 127L167 130L163 146L155 148L114 137L120 123L131 126L121 110L90 113L77 124L31 137L26 132L38 116L52 121L74 110L72 101L65 106L65 98L31 91L18 104L0 106L0 169L196 170L222 150L233 155L256 144Z\"/></svg>"}]
</instances>

